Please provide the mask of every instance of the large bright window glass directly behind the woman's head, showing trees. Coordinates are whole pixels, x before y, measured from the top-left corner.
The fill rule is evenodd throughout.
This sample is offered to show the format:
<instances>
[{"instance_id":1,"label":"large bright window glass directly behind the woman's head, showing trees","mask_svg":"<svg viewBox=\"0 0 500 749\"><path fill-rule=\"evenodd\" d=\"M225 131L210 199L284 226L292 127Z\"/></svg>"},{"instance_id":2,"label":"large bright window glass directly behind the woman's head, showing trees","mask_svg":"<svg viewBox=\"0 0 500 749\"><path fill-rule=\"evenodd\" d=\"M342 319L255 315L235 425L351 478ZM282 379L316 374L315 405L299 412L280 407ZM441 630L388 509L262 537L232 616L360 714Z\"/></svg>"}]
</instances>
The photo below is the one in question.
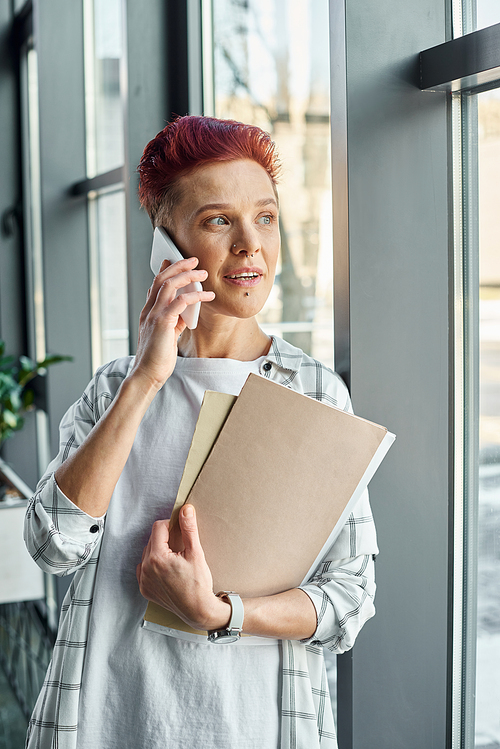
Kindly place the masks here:
<instances>
[{"instance_id":1,"label":"large bright window glass directly behind the woman's head, showing trees","mask_svg":"<svg viewBox=\"0 0 500 749\"><path fill-rule=\"evenodd\" d=\"M328 0L214 0L217 117L270 132L283 160L281 265L263 327L333 362Z\"/></svg>"}]
</instances>

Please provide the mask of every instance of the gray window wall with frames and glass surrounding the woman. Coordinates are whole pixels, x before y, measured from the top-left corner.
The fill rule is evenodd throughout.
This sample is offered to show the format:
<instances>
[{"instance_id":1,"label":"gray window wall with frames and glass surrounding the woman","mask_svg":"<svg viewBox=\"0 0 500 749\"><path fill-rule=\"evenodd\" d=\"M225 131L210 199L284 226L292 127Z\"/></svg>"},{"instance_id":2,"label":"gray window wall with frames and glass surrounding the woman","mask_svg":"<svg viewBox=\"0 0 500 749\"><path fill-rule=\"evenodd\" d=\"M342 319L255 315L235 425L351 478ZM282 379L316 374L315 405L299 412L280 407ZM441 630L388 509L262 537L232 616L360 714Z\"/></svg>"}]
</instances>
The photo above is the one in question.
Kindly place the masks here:
<instances>
[{"instance_id":1,"label":"gray window wall with frames and glass surrounding the woman","mask_svg":"<svg viewBox=\"0 0 500 749\"><path fill-rule=\"evenodd\" d=\"M136 166L173 114L282 161L263 328L397 434L371 484L377 616L328 658L340 749L500 749L500 2L0 0L0 339L72 361L2 446L33 488L151 283ZM0 501L0 747L20 749L68 582ZM2 743L3 742L3 743Z\"/></svg>"}]
</instances>

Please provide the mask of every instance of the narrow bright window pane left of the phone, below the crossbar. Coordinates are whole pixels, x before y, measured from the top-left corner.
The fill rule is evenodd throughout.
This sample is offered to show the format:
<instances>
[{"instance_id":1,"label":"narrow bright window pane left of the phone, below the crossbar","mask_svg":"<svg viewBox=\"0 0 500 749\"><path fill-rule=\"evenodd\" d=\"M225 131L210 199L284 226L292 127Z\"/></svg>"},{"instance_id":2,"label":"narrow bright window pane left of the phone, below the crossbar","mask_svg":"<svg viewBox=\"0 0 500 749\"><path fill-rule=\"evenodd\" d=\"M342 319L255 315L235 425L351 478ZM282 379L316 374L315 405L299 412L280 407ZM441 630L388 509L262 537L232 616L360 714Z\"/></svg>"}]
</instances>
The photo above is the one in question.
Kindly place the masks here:
<instances>
[{"instance_id":1,"label":"narrow bright window pane left of the phone, below the crossbar","mask_svg":"<svg viewBox=\"0 0 500 749\"><path fill-rule=\"evenodd\" d=\"M93 367L129 354L125 193L90 200Z\"/></svg>"}]
</instances>

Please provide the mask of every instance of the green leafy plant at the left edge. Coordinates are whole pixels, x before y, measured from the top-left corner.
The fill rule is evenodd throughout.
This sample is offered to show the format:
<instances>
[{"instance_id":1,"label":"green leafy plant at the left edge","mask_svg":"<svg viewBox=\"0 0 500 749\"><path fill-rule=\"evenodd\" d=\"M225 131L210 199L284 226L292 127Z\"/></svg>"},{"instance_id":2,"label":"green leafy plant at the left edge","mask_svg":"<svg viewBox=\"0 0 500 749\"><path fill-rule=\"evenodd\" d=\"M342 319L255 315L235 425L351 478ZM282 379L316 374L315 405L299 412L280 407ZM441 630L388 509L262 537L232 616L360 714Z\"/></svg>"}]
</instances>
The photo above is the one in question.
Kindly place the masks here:
<instances>
[{"instance_id":1,"label":"green leafy plant at the left edge","mask_svg":"<svg viewBox=\"0 0 500 749\"><path fill-rule=\"evenodd\" d=\"M0 445L22 429L23 414L34 407L35 393L28 383L51 364L72 360L71 356L55 354L39 362L20 356L16 363L14 356L4 356L4 352L5 343L0 340Z\"/></svg>"}]
</instances>

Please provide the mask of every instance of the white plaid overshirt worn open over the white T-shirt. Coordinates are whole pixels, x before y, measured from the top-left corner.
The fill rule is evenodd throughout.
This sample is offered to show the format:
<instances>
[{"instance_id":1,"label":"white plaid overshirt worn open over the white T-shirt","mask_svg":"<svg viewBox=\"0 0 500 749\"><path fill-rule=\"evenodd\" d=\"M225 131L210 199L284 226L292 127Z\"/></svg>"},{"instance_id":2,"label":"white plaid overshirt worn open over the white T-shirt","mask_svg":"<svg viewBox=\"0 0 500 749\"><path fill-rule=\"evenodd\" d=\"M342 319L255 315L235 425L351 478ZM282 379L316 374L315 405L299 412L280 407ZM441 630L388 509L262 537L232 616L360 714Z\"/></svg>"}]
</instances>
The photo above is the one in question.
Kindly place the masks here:
<instances>
[{"instance_id":1,"label":"white plaid overshirt worn open over the white T-shirt","mask_svg":"<svg viewBox=\"0 0 500 749\"><path fill-rule=\"evenodd\" d=\"M33 559L49 573L75 572L62 605L52 661L30 720L29 749L77 749L79 694L105 525L104 517L88 516L62 494L54 472L112 402L132 361L127 357L101 367L66 413L59 454L28 506L25 540ZM261 374L329 405L351 409L347 389L331 369L279 338L273 337ZM335 544L302 586L316 608L316 632L307 641L281 642L281 749L337 748L323 647L335 653L348 650L375 613L373 555L377 553L365 492Z\"/></svg>"}]
</instances>

